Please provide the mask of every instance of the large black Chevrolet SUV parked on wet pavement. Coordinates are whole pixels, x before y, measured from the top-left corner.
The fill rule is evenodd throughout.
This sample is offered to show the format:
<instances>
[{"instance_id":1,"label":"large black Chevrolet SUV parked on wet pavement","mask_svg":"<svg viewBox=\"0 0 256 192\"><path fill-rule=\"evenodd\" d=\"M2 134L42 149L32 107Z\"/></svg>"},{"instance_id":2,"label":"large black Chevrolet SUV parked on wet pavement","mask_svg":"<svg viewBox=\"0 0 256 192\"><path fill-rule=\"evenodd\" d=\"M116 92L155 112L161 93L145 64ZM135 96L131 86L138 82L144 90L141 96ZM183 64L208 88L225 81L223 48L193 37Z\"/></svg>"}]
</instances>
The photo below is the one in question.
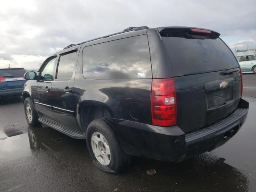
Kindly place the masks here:
<instances>
[{"instance_id":1,"label":"large black Chevrolet SUV parked on wet pavement","mask_svg":"<svg viewBox=\"0 0 256 192\"><path fill-rule=\"evenodd\" d=\"M27 72L26 120L86 139L94 164L179 162L229 140L246 120L239 64L212 30L130 27L50 56Z\"/></svg>"}]
</instances>

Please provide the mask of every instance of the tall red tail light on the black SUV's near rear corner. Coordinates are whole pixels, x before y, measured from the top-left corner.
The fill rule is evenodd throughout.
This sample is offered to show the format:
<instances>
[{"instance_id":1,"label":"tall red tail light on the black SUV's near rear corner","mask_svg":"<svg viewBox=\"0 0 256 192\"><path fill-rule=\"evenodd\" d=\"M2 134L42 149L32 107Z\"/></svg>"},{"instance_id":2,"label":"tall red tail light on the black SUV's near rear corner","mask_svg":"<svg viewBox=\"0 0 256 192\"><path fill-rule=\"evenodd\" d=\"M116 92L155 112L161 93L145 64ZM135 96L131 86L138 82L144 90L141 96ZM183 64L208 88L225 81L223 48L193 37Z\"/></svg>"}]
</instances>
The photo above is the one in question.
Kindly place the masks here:
<instances>
[{"instance_id":1,"label":"tall red tail light on the black SUV's near rear corner","mask_svg":"<svg viewBox=\"0 0 256 192\"><path fill-rule=\"evenodd\" d=\"M153 79L151 89L152 124L158 126L175 125L176 92L174 79Z\"/></svg>"}]
</instances>

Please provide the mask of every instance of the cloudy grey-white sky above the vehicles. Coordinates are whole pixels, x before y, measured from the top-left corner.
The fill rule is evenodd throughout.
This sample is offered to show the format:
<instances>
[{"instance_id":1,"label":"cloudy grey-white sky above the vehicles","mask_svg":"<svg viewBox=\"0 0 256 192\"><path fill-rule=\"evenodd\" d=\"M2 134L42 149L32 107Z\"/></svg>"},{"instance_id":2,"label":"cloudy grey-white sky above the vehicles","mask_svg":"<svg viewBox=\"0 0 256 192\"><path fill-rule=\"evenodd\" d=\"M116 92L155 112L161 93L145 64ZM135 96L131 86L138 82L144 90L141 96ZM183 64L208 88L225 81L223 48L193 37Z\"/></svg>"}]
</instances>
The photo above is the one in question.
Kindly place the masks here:
<instances>
[{"instance_id":1,"label":"cloudy grey-white sky above the vehicles","mask_svg":"<svg viewBox=\"0 0 256 192\"><path fill-rule=\"evenodd\" d=\"M129 26L209 28L232 50L256 48L256 0L1 0L0 68L38 69L69 44Z\"/></svg>"}]
</instances>

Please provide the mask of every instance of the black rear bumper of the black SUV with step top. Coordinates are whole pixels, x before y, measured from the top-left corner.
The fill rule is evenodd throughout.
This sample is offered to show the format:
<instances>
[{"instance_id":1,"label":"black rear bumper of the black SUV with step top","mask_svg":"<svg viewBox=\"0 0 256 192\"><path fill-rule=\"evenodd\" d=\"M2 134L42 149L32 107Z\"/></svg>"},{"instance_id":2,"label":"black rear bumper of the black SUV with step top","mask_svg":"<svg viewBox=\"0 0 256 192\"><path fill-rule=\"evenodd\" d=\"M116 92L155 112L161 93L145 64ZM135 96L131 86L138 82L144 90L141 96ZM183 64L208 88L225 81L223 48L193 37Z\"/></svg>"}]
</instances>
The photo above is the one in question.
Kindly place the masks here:
<instances>
[{"instance_id":1,"label":"black rear bumper of the black SUV with step top","mask_svg":"<svg viewBox=\"0 0 256 192\"><path fill-rule=\"evenodd\" d=\"M241 99L238 108L228 117L189 134L178 126L160 127L127 120L115 120L114 127L126 153L178 162L227 142L244 124L248 108L248 102Z\"/></svg>"}]
</instances>

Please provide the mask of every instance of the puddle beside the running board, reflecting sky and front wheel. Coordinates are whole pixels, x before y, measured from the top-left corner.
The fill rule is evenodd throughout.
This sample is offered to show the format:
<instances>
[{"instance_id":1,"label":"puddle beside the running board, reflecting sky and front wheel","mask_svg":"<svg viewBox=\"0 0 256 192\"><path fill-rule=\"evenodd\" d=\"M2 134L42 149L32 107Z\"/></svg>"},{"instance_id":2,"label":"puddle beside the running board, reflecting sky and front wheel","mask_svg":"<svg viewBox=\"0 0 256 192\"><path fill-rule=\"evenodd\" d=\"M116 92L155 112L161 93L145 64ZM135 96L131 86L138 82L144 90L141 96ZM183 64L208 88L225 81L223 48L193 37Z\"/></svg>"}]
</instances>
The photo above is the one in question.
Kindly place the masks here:
<instances>
[{"instance_id":1,"label":"puddle beside the running board, reflecting sky and front wheel","mask_svg":"<svg viewBox=\"0 0 256 192\"><path fill-rule=\"evenodd\" d=\"M78 140L72 139L52 128L28 127L27 133L15 128L0 130L0 160L16 159L29 156L33 152L46 150L64 153L70 148L77 148Z\"/></svg>"}]
</instances>

